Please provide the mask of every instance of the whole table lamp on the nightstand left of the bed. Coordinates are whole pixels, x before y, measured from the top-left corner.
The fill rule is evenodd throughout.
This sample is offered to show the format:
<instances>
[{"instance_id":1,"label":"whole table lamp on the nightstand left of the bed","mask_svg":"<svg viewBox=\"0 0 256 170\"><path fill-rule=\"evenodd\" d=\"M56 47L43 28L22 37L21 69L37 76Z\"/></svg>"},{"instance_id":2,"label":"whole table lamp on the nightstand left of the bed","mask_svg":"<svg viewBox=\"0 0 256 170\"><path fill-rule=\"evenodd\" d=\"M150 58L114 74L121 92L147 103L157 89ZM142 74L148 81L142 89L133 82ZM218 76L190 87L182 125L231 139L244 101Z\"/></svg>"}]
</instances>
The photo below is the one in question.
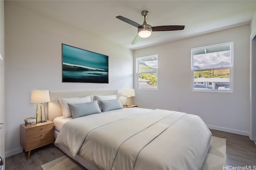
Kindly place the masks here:
<instances>
[{"instance_id":1,"label":"whole table lamp on the nightstand left of the bed","mask_svg":"<svg viewBox=\"0 0 256 170\"><path fill-rule=\"evenodd\" d=\"M36 123L45 122L44 103L50 102L49 90L32 90L30 103L37 103Z\"/></svg>"}]
</instances>

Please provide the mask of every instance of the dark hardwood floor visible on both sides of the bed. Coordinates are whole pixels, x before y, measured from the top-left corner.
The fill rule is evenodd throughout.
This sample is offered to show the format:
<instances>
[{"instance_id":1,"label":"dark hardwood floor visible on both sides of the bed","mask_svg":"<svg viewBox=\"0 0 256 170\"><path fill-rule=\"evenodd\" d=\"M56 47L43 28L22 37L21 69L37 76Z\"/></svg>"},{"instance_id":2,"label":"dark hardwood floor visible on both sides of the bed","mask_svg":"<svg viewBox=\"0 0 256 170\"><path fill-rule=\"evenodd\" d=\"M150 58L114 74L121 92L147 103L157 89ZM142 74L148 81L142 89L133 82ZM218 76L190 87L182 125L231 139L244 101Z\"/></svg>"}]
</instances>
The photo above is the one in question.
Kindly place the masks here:
<instances>
[{"instance_id":1,"label":"dark hardwood floor visible on both sides of the bed","mask_svg":"<svg viewBox=\"0 0 256 170\"><path fill-rule=\"evenodd\" d=\"M226 139L227 166L256 167L256 145L247 136L228 132L210 130L213 136ZM30 159L27 153L22 152L5 158L6 170L42 170L41 165L63 156L64 153L57 147L46 145L32 150Z\"/></svg>"}]
</instances>

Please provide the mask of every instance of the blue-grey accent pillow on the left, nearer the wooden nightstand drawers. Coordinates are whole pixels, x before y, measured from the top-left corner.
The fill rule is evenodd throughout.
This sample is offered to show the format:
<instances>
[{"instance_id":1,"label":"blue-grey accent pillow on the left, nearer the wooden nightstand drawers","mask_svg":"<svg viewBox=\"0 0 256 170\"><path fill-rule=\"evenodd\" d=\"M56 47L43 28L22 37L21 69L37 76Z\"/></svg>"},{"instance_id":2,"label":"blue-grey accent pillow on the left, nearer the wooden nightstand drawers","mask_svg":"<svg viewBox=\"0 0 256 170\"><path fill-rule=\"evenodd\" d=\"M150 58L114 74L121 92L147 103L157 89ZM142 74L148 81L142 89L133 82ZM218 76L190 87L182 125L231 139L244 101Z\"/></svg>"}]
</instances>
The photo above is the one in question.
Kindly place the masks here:
<instances>
[{"instance_id":1,"label":"blue-grey accent pillow on the left, nearer the wooden nightstand drawers","mask_svg":"<svg viewBox=\"0 0 256 170\"><path fill-rule=\"evenodd\" d=\"M82 104L68 103L68 106L70 107L73 119L77 117L101 113L100 107L97 101L82 103Z\"/></svg>"}]
</instances>

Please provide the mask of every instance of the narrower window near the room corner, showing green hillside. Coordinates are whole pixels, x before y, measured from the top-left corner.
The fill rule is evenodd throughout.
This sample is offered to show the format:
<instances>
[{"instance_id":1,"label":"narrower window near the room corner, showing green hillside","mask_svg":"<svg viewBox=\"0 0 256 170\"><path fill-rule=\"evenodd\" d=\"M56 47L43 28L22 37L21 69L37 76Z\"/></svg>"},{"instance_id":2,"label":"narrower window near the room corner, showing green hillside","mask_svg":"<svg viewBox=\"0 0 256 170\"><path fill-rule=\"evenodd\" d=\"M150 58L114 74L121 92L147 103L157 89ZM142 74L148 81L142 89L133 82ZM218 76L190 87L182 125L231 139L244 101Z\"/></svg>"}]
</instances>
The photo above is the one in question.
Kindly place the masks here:
<instances>
[{"instance_id":1,"label":"narrower window near the room corner, showing green hillside","mask_svg":"<svg viewBox=\"0 0 256 170\"><path fill-rule=\"evenodd\" d=\"M157 89L158 55L139 57L137 63L137 88Z\"/></svg>"}]
</instances>

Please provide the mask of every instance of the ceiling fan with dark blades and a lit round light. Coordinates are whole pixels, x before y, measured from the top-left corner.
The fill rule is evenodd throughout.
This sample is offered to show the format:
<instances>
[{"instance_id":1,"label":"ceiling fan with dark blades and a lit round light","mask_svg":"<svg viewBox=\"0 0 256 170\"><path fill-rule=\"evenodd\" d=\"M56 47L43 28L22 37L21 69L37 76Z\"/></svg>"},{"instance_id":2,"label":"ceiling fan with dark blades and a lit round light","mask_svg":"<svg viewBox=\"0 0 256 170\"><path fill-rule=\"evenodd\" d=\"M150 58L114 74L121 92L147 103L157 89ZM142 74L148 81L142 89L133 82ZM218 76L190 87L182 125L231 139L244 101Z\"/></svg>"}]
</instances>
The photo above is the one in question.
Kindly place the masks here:
<instances>
[{"instance_id":1,"label":"ceiling fan with dark blades and a lit round light","mask_svg":"<svg viewBox=\"0 0 256 170\"><path fill-rule=\"evenodd\" d=\"M183 30L184 29L184 25L164 25L164 26L156 26L156 27L152 27L151 25L148 25L146 22L146 17L148 16L148 11L144 10L141 12L141 15L144 18L144 22L142 23L142 25L129 20L127 18L124 18L122 16L117 16L116 18L118 18L119 20L122 20L126 23L129 23L130 25L133 25L134 27L138 28L138 35L134 38L134 40L132 41L132 44L136 44L140 37L142 38L146 38L149 37L152 33L152 31L175 31L175 30Z\"/></svg>"}]
</instances>

